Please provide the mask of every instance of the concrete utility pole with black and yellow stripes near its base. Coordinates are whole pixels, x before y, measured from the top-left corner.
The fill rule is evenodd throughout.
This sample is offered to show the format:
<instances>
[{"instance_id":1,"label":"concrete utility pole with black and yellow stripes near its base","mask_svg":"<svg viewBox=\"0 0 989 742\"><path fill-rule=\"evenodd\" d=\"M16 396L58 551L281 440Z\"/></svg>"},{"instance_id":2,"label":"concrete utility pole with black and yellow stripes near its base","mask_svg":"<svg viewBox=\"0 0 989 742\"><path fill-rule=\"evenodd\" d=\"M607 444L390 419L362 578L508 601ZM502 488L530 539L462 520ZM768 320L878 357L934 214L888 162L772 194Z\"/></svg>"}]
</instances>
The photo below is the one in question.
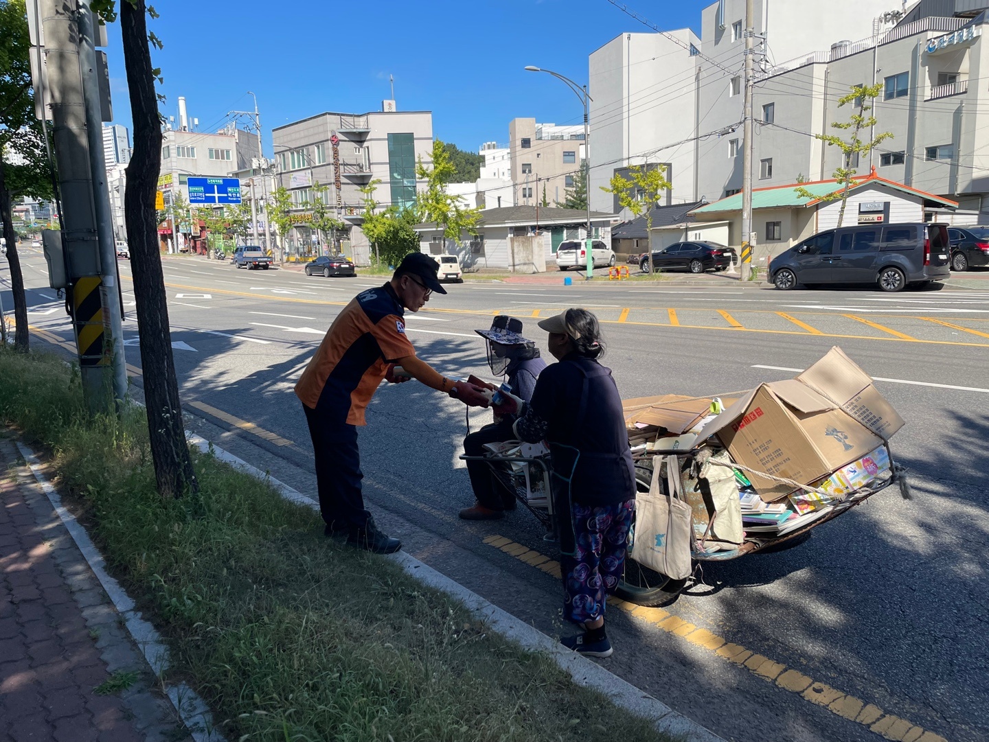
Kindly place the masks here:
<instances>
[{"instance_id":1,"label":"concrete utility pole with black and yellow stripes near its base","mask_svg":"<svg viewBox=\"0 0 989 742\"><path fill-rule=\"evenodd\" d=\"M55 159L58 165L58 190L62 200L62 243L66 256L68 283L72 299L72 321L79 353L79 367L83 392L93 412L113 412L114 396L123 398L127 390L124 377L123 389L114 372L119 361L123 366L124 353L121 344L115 353L113 315L120 327L120 304L112 308L107 303L116 295L116 254L111 238L113 263L101 261L100 236L93 193L93 160L90 157L87 112L92 101L83 94L82 70L95 81L94 57L84 68L80 64L80 25L75 8L61 0L38 0L45 38L45 69L51 101L51 135L54 141ZM88 14L88 5L83 5ZM87 23L92 43L92 24ZM91 50L91 46L85 44ZM83 51L85 54L86 52ZM90 51L90 53L92 53ZM90 86L92 95L97 92ZM99 125L99 103L95 104ZM101 138L96 155L103 159L102 126L96 132ZM106 175L103 176L106 178ZM102 218L102 217L101 217ZM112 234L112 232L111 232ZM107 285L105 279L113 277ZM109 334L110 337L107 337Z\"/></svg>"}]
</instances>

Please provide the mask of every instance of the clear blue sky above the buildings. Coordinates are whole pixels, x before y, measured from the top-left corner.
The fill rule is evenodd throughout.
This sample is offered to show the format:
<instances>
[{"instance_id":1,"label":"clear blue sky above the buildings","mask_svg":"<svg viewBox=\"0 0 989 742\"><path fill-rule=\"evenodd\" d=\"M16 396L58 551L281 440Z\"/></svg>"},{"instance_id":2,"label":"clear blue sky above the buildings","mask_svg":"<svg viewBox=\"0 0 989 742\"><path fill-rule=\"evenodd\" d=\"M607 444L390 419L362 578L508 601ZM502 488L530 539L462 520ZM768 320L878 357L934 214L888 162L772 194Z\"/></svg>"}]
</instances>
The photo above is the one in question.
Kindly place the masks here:
<instances>
[{"instance_id":1,"label":"clear blue sky above the buildings","mask_svg":"<svg viewBox=\"0 0 989 742\"><path fill-rule=\"evenodd\" d=\"M364 113L391 96L400 111L432 111L433 134L462 149L508 138L508 122L579 124L583 109L563 83L527 64L585 82L587 55L622 32L648 31L606 0L159 0L149 28L163 42L153 61L176 116L178 96L201 130L257 95L265 152L271 128L323 111ZM663 29L697 31L713 0L626 0ZM119 24L110 29L116 122L131 127Z\"/></svg>"}]
</instances>

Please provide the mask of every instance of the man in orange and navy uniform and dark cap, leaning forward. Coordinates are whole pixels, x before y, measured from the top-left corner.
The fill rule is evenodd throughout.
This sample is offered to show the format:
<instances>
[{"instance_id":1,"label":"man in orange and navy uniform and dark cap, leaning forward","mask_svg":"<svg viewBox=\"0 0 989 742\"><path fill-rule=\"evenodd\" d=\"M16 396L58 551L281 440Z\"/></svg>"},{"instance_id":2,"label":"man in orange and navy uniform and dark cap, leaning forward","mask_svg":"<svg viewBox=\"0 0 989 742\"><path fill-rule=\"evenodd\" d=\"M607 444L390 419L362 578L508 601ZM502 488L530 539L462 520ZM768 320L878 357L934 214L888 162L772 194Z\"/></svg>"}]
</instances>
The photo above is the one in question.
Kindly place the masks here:
<instances>
[{"instance_id":1,"label":"man in orange and navy uniform and dark cap, leaning forward","mask_svg":"<svg viewBox=\"0 0 989 742\"><path fill-rule=\"evenodd\" d=\"M382 287L361 291L336 316L315 356L296 384L315 453L319 513L326 536L378 553L402 548L398 538L383 534L364 508L357 450L357 426L382 379L417 378L471 407L487 407L482 389L446 378L415 356L405 335L405 309L417 312L433 291L446 293L436 278L439 264L423 253L410 253ZM401 366L408 374L395 374Z\"/></svg>"}]
</instances>

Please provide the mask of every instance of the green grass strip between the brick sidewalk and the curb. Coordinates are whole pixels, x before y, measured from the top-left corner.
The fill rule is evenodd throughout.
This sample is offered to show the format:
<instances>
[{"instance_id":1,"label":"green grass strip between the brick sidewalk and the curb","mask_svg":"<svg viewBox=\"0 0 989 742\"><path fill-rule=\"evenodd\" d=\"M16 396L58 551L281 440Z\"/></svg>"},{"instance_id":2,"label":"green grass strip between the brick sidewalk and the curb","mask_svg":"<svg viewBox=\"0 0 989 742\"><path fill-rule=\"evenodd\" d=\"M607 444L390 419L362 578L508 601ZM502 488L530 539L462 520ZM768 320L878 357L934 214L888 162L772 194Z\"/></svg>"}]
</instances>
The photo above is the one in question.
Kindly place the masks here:
<instances>
[{"instance_id":1,"label":"green grass strip between the brick sidewalk and the curb","mask_svg":"<svg viewBox=\"0 0 989 742\"><path fill-rule=\"evenodd\" d=\"M161 499L142 411L89 420L59 359L0 349L0 377L0 416L50 450L228 739L668 739L211 454L198 496Z\"/></svg>"}]
</instances>

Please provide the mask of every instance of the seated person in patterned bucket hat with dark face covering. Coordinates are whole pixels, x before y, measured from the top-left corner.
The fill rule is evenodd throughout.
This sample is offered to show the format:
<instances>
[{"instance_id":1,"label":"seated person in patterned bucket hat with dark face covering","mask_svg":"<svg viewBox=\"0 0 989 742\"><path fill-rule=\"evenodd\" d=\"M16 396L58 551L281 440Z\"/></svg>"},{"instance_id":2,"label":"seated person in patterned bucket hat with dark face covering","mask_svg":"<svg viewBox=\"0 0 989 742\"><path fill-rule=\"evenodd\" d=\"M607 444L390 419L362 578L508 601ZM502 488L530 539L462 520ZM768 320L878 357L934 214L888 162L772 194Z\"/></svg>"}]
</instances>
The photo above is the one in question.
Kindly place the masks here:
<instances>
[{"instance_id":1,"label":"seated person in patterned bucket hat with dark face covering","mask_svg":"<svg viewBox=\"0 0 989 742\"><path fill-rule=\"evenodd\" d=\"M522 336L522 321L499 314L494 317L490 330L475 330L485 339L488 365L495 376L505 376L512 394L528 401L536 388L539 372L546 362L539 357L539 349L531 340ZM511 425L514 415L505 415L464 439L464 453L480 456L485 444L510 441L514 433ZM471 477L476 503L460 511L465 521L494 521L504 517L504 511L515 509L515 495L508 492L495 478L491 468L483 461L468 461L467 472Z\"/></svg>"}]
</instances>

